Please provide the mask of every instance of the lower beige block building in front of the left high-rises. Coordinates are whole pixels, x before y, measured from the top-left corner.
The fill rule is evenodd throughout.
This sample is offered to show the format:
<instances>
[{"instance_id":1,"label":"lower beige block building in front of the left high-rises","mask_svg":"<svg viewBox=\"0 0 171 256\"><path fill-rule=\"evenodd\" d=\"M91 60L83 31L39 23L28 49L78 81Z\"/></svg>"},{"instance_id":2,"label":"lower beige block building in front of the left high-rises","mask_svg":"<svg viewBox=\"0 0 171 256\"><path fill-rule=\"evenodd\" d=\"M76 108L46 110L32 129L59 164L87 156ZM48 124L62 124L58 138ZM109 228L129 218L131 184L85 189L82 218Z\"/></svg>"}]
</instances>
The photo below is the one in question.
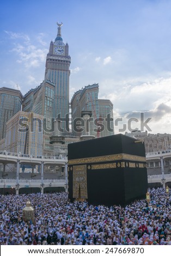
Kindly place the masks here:
<instances>
[{"instance_id":1,"label":"lower beige block building in front of the left high-rises","mask_svg":"<svg viewBox=\"0 0 171 256\"><path fill-rule=\"evenodd\" d=\"M19 111L7 122L5 150L8 152L41 156L43 143L43 116ZM38 121L39 120L39 121Z\"/></svg>"}]
</instances>

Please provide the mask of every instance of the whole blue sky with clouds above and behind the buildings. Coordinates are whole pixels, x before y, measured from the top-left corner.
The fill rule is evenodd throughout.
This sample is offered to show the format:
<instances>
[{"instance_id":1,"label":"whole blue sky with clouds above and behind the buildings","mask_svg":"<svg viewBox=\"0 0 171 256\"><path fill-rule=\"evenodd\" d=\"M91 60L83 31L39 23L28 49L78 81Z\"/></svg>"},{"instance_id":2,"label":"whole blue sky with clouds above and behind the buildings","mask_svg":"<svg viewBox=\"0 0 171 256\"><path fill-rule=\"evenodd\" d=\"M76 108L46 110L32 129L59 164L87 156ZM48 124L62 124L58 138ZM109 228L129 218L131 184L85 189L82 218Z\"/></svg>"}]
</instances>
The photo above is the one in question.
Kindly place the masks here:
<instances>
[{"instance_id":1,"label":"whole blue sky with clouds above and behind the buildings","mask_svg":"<svg viewBox=\"0 0 171 256\"><path fill-rule=\"evenodd\" d=\"M39 86L62 21L71 56L70 97L99 83L99 97L112 101L114 119L127 123L144 112L151 133L170 133L170 10L171 1L164 0L3 1L1 87L18 84L25 94Z\"/></svg>"}]
</instances>

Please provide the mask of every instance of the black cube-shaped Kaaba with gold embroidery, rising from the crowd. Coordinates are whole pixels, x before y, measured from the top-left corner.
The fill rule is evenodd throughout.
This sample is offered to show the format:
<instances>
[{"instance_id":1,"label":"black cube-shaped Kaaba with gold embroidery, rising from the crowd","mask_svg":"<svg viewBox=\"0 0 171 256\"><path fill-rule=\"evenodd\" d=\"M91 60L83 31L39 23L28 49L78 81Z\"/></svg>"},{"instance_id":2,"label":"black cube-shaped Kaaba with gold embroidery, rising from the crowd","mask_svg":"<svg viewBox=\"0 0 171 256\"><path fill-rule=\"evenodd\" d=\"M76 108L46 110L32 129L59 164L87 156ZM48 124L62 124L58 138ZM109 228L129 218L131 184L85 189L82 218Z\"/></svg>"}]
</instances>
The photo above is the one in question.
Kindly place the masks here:
<instances>
[{"instance_id":1,"label":"black cube-shaped Kaaba with gold embroidery, rising from the crowd","mask_svg":"<svg viewBox=\"0 0 171 256\"><path fill-rule=\"evenodd\" d=\"M68 144L69 199L126 205L148 189L144 143L125 135Z\"/></svg>"}]
</instances>

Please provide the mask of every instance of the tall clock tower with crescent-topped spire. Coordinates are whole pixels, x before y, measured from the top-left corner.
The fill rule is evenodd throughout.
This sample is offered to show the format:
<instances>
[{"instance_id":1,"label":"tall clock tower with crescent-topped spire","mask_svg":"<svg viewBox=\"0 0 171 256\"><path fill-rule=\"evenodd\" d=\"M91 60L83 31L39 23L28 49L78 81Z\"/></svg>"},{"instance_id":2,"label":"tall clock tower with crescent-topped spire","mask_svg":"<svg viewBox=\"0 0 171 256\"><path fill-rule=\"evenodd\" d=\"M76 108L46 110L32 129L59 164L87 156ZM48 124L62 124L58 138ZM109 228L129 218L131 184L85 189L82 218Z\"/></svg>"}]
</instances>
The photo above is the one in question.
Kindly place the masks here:
<instances>
[{"instance_id":1,"label":"tall clock tower with crescent-topped spire","mask_svg":"<svg viewBox=\"0 0 171 256\"><path fill-rule=\"evenodd\" d=\"M45 80L55 84L53 100L53 117L62 118L62 129L69 131L69 77L70 63L68 43L64 44L61 36L63 23L58 23L58 34L51 41L46 57Z\"/></svg>"}]
</instances>

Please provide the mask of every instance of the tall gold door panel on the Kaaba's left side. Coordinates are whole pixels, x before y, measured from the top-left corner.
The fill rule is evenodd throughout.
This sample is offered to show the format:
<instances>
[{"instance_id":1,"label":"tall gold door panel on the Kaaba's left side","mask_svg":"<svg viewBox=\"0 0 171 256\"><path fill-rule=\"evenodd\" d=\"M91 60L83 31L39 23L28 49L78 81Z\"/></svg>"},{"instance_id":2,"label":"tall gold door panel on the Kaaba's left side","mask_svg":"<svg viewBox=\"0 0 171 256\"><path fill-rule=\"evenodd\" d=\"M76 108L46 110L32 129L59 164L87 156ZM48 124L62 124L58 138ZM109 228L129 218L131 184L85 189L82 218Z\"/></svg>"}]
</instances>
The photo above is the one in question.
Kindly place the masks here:
<instances>
[{"instance_id":1,"label":"tall gold door panel on the Kaaba's left side","mask_svg":"<svg viewBox=\"0 0 171 256\"><path fill-rule=\"evenodd\" d=\"M87 165L73 166L73 198L87 199Z\"/></svg>"}]
</instances>

